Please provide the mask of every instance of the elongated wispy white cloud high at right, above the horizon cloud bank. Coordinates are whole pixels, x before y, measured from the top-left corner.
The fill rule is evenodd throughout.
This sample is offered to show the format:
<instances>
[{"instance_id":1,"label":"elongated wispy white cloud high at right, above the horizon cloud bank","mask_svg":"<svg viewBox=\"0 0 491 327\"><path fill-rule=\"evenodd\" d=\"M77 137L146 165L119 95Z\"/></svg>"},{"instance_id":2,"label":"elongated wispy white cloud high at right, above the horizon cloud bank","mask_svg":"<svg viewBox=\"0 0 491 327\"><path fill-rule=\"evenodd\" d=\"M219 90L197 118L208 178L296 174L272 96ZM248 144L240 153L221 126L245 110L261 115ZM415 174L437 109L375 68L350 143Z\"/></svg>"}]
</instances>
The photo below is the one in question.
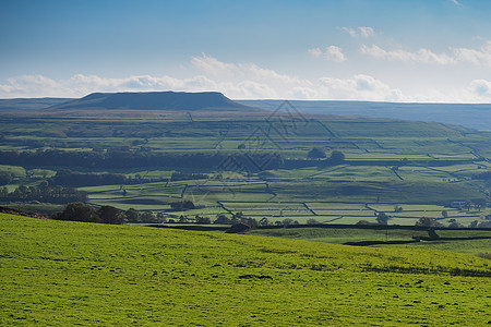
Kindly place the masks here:
<instances>
[{"instance_id":1,"label":"elongated wispy white cloud high at right, above the horizon cloud bank","mask_svg":"<svg viewBox=\"0 0 491 327\"><path fill-rule=\"evenodd\" d=\"M360 52L378 59L386 59L390 61L417 62L417 63L436 63L450 64L455 63L456 59L446 53L434 53L429 49L419 49L417 52L406 50L386 51L375 45L369 47L361 45Z\"/></svg>"}]
</instances>

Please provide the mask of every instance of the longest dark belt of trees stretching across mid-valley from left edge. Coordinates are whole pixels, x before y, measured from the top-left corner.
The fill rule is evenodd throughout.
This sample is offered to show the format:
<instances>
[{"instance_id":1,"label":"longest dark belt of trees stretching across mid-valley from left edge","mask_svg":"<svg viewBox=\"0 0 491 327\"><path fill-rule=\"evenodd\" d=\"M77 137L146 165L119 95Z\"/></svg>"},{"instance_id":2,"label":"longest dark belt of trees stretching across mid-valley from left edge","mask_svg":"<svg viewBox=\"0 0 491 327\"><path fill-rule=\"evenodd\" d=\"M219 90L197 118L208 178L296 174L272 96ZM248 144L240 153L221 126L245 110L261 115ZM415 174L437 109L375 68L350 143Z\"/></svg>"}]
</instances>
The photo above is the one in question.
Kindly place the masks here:
<instances>
[{"instance_id":1,"label":"longest dark belt of trees stretching across mid-valley from left edge","mask_svg":"<svg viewBox=\"0 0 491 327\"><path fill-rule=\"evenodd\" d=\"M267 160L265 160L267 157ZM283 164L278 154L176 154L141 153L134 150L109 149L107 152L65 152L45 149L37 152L0 152L0 165L15 166L57 166L84 168L142 168L142 167L181 167L181 168L221 168L232 171L258 171L277 169Z\"/></svg>"}]
</instances>

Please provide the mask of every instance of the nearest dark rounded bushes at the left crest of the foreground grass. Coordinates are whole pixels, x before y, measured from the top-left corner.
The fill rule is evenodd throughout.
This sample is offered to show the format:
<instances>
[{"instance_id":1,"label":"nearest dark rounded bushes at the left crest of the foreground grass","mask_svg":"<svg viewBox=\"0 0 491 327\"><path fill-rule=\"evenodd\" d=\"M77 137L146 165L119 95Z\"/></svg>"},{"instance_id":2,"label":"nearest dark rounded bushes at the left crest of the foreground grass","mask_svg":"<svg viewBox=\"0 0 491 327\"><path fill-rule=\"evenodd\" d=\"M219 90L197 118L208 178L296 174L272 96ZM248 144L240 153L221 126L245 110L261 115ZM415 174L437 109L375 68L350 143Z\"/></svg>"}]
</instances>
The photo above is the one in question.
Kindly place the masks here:
<instances>
[{"instance_id":1,"label":"nearest dark rounded bushes at the left crest of the foreground grass","mask_svg":"<svg viewBox=\"0 0 491 327\"><path fill-rule=\"evenodd\" d=\"M124 223L124 214L115 207L103 206L99 209L84 203L69 203L63 211L51 216L56 220L99 222L99 223Z\"/></svg>"}]
</instances>

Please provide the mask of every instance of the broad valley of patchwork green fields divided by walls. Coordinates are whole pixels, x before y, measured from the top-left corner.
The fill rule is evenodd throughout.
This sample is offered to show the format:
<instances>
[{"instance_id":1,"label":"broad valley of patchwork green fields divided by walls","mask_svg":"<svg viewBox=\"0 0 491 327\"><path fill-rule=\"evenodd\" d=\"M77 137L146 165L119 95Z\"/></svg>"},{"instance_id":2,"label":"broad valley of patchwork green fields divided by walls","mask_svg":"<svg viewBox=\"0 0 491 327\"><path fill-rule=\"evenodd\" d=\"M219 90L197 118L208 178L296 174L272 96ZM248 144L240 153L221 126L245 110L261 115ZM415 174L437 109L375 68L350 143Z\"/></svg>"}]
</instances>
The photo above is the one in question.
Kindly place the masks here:
<instances>
[{"instance_id":1,"label":"broad valley of patchwork green fields divided by walls","mask_svg":"<svg viewBox=\"0 0 491 327\"><path fill-rule=\"evenodd\" d=\"M490 202L489 181L476 177L491 169L491 134L458 125L307 116L288 104L272 112L227 114L2 111L0 121L0 173L12 177L8 192L50 183L69 169L127 178L77 186L89 204L151 210L168 219L242 213L270 221L356 223L374 222L378 211L386 211L392 225L427 217L468 226L490 215L486 206L450 207ZM309 157L313 148L322 148L327 159ZM330 161L335 152L344 160ZM272 158L277 160L268 167ZM173 173L189 177L172 180ZM196 209L171 209L171 203L182 201ZM1 204L46 213L55 208L43 199ZM395 213L396 205L403 211Z\"/></svg>"}]
</instances>

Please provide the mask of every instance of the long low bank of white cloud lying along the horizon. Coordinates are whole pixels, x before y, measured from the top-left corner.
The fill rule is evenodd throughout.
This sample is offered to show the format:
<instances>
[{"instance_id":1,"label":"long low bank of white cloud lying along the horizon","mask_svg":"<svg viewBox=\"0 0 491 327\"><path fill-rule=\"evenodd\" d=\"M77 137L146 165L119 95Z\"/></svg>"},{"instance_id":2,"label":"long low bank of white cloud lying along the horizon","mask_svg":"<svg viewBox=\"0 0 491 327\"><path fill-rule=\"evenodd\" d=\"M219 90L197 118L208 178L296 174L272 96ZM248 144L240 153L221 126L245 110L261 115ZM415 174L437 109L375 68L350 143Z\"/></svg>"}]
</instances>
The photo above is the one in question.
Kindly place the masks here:
<instances>
[{"instance_id":1,"label":"long low bank of white cloud lying along the horizon","mask_svg":"<svg viewBox=\"0 0 491 327\"><path fill-rule=\"evenodd\" d=\"M325 52L321 52L325 56ZM388 56L382 53L383 58ZM398 58L396 57L400 60ZM410 56L409 58L415 60ZM434 61L434 59L426 60ZM468 61L470 62L470 59ZM199 73L187 78L168 75L108 78L76 74L67 80L56 81L43 75L22 75L0 83L0 98L80 97L94 92L217 90L233 99L491 102L491 82L487 80L474 80L453 89L432 88L409 95L367 74L346 78L323 76L314 81L282 74L254 63L221 62L206 55L192 58L190 64L196 68Z\"/></svg>"}]
</instances>

